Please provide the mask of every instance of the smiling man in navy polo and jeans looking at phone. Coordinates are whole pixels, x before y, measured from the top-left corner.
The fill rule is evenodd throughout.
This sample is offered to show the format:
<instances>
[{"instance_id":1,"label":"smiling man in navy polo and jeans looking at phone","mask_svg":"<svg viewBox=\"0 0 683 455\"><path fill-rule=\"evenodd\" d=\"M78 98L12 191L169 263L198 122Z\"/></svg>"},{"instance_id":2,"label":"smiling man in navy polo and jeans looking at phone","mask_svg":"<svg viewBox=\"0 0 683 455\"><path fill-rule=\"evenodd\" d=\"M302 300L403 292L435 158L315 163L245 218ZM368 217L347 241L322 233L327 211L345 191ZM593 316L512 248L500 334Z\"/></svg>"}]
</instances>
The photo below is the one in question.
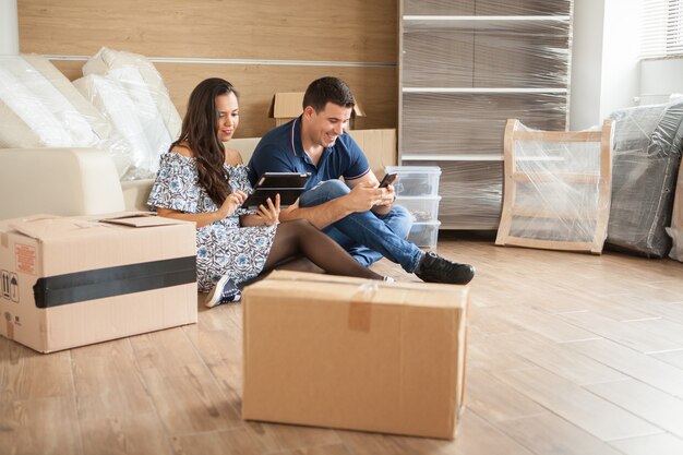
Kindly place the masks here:
<instances>
[{"instance_id":1,"label":"smiling man in navy polo and jeans looking at phone","mask_svg":"<svg viewBox=\"0 0 683 455\"><path fill-rule=\"evenodd\" d=\"M252 184L265 172L310 172L308 191L280 212L280 220L308 219L366 266L385 256L424 282L469 283L471 265L424 253L405 240L410 214L393 205L394 187L379 187L368 159L345 132L354 106L342 80L313 81L301 117L269 131L256 146L249 161Z\"/></svg>"}]
</instances>

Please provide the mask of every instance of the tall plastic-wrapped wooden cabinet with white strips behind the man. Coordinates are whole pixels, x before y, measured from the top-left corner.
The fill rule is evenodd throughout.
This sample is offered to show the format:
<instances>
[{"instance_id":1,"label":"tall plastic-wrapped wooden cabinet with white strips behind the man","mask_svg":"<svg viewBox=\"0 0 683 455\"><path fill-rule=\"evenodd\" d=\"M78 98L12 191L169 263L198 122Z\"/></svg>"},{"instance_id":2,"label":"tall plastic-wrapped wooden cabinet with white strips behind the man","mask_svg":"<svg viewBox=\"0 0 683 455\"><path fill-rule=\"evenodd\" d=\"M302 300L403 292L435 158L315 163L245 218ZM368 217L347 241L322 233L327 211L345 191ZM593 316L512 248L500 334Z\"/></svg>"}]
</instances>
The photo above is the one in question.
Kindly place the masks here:
<instances>
[{"instance_id":1,"label":"tall plastic-wrapped wooden cabinet with white strips behind the man","mask_svg":"<svg viewBox=\"0 0 683 455\"><path fill-rule=\"evenodd\" d=\"M565 130L572 0L402 0L402 165L442 168L442 229L496 229L508 118Z\"/></svg>"}]
</instances>

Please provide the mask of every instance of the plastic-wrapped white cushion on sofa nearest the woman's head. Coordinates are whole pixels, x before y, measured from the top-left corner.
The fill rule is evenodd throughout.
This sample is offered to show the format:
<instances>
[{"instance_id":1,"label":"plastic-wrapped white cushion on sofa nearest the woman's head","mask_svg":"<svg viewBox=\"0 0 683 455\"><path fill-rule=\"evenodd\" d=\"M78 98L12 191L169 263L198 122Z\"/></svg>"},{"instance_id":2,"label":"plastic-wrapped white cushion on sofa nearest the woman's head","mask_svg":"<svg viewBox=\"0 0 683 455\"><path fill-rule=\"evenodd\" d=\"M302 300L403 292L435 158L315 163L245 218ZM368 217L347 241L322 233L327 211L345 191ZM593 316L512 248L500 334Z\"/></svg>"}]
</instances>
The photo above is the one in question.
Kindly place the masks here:
<instances>
[{"instance_id":1,"label":"plastic-wrapped white cushion on sofa nearest the woman's head","mask_svg":"<svg viewBox=\"0 0 683 455\"><path fill-rule=\"evenodd\" d=\"M182 122L164 80L154 64L144 56L103 47L83 65L83 75L105 76L116 81L118 87L123 88L127 98L134 106L134 115L140 128L134 128L130 132L121 129L119 131L123 135L133 137L136 146L141 147L142 143L146 143L147 146L135 149L133 156L135 169L128 178L145 178L156 172L158 156L168 149L171 141L178 137ZM88 85L92 86L92 83ZM99 85L105 86L104 83ZM105 99L107 99L106 96L100 96L100 101ZM106 111L108 115L118 111L120 116L124 116L127 113L120 111L124 104L119 103ZM115 123L122 127L127 121L119 118ZM144 141L139 137L139 130L144 133Z\"/></svg>"}]
</instances>

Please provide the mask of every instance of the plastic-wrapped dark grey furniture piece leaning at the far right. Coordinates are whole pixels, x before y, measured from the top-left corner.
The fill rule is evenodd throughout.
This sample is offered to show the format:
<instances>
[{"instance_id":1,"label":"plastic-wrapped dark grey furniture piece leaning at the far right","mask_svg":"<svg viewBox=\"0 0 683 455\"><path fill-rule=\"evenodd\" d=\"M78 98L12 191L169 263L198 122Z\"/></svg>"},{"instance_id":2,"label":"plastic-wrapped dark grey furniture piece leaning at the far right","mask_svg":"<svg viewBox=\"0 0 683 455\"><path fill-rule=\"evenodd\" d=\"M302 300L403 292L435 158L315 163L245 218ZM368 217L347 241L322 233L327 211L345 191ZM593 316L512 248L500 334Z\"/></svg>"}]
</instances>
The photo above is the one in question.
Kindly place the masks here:
<instances>
[{"instance_id":1,"label":"plastic-wrapped dark grey furniture piece leaning at the far right","mask_svg":"<svg viewBox=\"0 0 683 455\"><path fill-rule=\"evenodd\" d=\"M671 249L675 179L683 142L683 100L613 112L612 207L607 243L648 258Z\"/></svg>"}]
</instances>

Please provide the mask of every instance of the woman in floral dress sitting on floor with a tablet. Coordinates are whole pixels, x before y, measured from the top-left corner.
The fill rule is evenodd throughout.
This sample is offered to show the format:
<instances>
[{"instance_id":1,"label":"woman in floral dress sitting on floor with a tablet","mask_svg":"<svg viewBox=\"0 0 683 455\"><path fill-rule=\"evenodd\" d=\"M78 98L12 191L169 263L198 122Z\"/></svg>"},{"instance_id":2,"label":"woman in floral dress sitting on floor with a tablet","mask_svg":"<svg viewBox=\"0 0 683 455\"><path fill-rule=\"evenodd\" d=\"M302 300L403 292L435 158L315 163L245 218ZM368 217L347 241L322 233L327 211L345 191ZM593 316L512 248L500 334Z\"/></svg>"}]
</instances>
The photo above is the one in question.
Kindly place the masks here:
<instances>
[{"instance_id":1,"label":"woman in floral dress sitting on floor with a tablet","mask_svg":"<svg viewBox=\"0 0 683 455\"><path fill-rule=\"evenodd\" d=\"M237 92L221 79L201 82L188 103L178 141L161 155L148 204L160 216L196 223L200 291L205 304L237 301L237 285L305 256L335 275L384 279L356 262L305 220L279 223L279 196L257 211L240 207L251 192L237 151L226 148L239 124Z\"/></svg>"}]
</instances>

